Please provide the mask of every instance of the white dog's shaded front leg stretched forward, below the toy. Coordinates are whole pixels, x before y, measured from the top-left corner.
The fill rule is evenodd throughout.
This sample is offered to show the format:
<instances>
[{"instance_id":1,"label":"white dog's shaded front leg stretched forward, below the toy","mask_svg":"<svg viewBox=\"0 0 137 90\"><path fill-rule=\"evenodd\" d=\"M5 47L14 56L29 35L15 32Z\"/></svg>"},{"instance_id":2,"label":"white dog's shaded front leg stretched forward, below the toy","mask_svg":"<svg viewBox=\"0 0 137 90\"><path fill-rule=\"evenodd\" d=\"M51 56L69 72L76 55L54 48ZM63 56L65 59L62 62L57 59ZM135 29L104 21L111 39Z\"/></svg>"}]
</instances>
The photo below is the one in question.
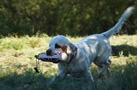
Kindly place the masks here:
<instances>
[{"instance_id":1,"label":"white dog's shaded front leg stretched forward, below the toy","mask_svg":"<svg viewBox=\"0 0 137 90\"><path fill-rule=\"evenodd\" d=\"M51 83L55 80L64 80L67 76L67 72L63 70L59 70L58 74L53 77Z\"/></svg>"}]
</instances>

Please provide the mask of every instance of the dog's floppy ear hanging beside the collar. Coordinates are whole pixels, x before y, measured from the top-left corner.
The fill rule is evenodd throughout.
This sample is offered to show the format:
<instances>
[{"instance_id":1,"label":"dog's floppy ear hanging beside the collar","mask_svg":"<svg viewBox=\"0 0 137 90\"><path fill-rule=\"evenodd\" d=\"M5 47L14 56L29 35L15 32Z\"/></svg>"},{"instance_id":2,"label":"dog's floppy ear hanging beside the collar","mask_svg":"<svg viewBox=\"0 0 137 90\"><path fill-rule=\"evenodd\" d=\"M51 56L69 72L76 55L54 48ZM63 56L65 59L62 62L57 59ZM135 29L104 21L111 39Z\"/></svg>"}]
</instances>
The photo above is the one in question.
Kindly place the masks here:
<instances>
[{"instance_id":1,"label":"dog's floppy ear hanging beside the collar","mask_svg":"<svg viewBox=\"0 0 137 90\"><path fill-rule=\"evenodd\" d=\"M74 44L69 43L66 53L76 56L76 54L77 54L77 47Z\"/></svg>"}]
</instances>

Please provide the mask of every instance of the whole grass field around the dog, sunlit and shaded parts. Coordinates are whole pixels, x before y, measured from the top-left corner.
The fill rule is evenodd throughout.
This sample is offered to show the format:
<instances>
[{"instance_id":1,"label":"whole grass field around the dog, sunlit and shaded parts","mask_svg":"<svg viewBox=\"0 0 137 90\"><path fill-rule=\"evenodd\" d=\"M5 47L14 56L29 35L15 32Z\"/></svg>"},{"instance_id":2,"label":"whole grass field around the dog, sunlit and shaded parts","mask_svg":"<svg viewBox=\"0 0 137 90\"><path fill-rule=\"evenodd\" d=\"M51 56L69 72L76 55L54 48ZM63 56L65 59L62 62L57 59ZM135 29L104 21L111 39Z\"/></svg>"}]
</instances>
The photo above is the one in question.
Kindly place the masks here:
<instances>
[{"instance_id":1,"label":"whole grass field around the dog, sunlit and shaded parts","mask_svg":"<svg viewBox=\"0 0 137 90\"><path fill-rule=\"evenodd\" d=\"M72 42L84 37L70 37ZM109 75L96 79L100 68L91 64L94 83L70 75L64 81L49 84L57 74L57 64L39 62L35 73L34 55L45 52L51 37L11 36L0 39L0 90L137 90L137 35L113 36L112 64Z\"/></svg>"}]
</instances>

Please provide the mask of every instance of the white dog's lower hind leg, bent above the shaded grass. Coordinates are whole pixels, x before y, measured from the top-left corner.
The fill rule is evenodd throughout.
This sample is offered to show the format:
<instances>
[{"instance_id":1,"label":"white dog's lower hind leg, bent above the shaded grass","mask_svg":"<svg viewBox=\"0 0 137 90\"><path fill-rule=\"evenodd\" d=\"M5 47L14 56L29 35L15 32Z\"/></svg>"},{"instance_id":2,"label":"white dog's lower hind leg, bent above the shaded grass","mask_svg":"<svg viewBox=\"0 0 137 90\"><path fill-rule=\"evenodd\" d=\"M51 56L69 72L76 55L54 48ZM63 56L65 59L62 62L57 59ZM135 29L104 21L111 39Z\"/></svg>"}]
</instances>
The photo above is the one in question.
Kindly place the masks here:
<instances>
[{"instance_id":1,"label":"white dog's lower hind leg, bent above the shaded grass","mask_svg":"<svg viewBox=\"0 0 137 90\"><path fill-rule=\"evenodd\" d=\"M110 59L107 60L105 63L101 64L100 66L102 67L101 71L99 72L97 78L100 78L100 76L102 76L103 73L106 73L106 71L108 70L109 66L111 64Z\"/></svg>"}]
</instances>

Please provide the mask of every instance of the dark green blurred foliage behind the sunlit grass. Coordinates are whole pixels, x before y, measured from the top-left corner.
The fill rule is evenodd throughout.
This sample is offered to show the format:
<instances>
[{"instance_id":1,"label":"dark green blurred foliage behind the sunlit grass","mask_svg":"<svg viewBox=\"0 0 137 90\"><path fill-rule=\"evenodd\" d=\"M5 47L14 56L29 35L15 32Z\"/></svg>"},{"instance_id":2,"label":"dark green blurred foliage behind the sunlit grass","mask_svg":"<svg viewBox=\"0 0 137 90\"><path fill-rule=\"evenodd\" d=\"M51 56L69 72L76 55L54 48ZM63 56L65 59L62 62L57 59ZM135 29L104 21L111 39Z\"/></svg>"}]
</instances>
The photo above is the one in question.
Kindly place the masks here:
<instances>
[{"instance_id":1,"label":"dark green blurred foliage behind the sunlit grass","mask_svg":"<svg viewBox=\"0 0 137 90\"><path fill-rule=\"evenodd\" d=\"M137 0L0 0L0 35L84 36L113 27ZM120 34L137 34L137 12Z\"/></svg>"}]
</instances>

